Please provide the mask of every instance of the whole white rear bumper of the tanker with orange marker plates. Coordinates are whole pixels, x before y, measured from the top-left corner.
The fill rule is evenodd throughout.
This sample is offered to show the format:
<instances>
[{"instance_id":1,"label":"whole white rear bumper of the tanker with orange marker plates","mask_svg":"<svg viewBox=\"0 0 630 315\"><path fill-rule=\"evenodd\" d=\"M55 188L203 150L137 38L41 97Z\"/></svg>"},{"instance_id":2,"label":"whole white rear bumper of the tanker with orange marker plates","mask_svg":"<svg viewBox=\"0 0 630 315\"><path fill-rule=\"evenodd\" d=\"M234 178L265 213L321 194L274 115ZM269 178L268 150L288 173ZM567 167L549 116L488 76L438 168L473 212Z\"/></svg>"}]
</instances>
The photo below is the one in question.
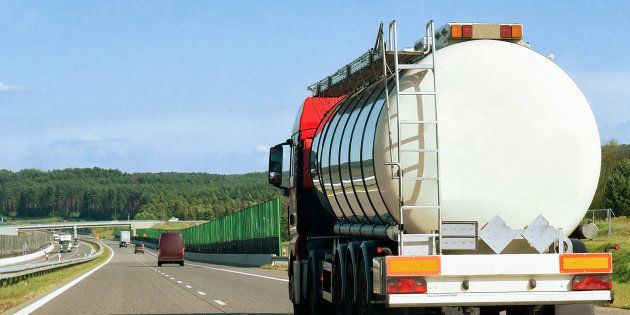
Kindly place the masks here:
<instances>
[{"instance_id":1,"label":"whole white rear bumper of the tanker with orange marker plates","mask_svg":"<svg viewBox=\"0 0 630 315\"><path fill-rule=\"evenodd\" d=\"M389 307L580 304L611 290L574 291L580 275L610 275L610 254L386 256L373 259L373 293ZM421 278L427 293L388 294L397 278Z\"/></svg>"}]
</instances>

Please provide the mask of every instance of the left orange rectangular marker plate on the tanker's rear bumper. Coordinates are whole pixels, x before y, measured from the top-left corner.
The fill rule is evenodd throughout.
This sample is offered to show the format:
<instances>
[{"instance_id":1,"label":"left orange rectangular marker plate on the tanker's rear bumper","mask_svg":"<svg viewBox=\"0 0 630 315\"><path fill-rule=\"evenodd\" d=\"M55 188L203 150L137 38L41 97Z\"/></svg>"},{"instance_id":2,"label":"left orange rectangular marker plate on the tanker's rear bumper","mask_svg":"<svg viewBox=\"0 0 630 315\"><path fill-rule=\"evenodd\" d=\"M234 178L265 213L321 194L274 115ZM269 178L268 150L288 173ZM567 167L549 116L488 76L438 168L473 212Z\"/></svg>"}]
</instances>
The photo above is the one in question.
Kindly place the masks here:
<instances>
[{"instance_id":1,"label":"left orange rectangular marker plate on the tanker's rear bumper","mask_svg":"<svg viewBox=\"0 0 630 315\"><path fill-rule=\"evenodd\" d=\"M388 276L439 275L440 256L388 256L386 258Z\"/></svg>"}]
</instances>

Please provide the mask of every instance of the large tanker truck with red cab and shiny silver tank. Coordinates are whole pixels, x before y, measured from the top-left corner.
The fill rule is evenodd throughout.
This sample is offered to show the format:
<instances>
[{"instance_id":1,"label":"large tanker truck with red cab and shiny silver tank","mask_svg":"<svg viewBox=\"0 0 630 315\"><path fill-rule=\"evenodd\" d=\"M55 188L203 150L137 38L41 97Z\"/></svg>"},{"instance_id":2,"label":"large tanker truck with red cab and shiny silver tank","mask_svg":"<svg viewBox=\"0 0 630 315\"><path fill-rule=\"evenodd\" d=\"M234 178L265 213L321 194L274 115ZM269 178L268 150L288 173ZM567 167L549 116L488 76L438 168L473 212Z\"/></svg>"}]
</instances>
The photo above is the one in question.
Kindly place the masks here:
<instances>
[{"instance_id":1,"label":"large tanker truck with red cab and shiny silver tank","mask_svg":"<svg viewBox=\"0 0 630 315\"><path fill-rule=\"evenodd\" d=\"M600 171L586 97L521 24L425 31L399 50L381 23L270 149L295 314L592 314L613 293L611 255L569 238Z\"/></svg>"}]
</instances>

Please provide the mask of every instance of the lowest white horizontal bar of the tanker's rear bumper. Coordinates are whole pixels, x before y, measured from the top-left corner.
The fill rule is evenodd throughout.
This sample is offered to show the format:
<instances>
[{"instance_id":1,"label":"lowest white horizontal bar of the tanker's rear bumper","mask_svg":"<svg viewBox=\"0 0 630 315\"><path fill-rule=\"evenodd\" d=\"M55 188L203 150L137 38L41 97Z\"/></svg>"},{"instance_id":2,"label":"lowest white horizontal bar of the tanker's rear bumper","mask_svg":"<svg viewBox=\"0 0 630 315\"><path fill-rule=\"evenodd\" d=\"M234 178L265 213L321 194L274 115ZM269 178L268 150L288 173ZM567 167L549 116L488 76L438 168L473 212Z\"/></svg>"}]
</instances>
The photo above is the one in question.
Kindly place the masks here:
<instances>
[{"instance_id":1,"label":"lowest white horizontal bar of the tanker's rear bumper","mask_svg":"<svg viewBox=\"0 0 630 315\"><path fill-rule=\"evenodd\" d=\"M611 291L570 292L491 292L491 293L434 293L389 294L389 307L415 306L487 306L487 305L545 305L592 303L612 300Z\"/></svg>"}]
</instances>

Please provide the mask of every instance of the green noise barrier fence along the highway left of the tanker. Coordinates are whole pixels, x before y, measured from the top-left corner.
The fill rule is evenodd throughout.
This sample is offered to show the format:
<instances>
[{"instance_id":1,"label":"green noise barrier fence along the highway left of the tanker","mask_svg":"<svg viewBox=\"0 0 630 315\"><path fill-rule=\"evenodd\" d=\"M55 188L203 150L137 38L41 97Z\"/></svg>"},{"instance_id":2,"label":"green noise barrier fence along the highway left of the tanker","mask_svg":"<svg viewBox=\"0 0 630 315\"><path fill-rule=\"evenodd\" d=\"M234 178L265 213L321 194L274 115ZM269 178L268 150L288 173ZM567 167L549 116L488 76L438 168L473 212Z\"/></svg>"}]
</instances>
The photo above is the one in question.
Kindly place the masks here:
<instances>
[{"instance_id":1,"label":"green noise barrier fence along the highway left of the tanker","mask_svg":"<svg viewBox=\"0 0 630 315\"><path fill-rule=\"evenodd\" d=\"M276 198L186 229L137 229L134 239L157 244L163 232L177 231L184 237L186 251L281 255L280 220Z\"/></svg>"}]
</instances>

